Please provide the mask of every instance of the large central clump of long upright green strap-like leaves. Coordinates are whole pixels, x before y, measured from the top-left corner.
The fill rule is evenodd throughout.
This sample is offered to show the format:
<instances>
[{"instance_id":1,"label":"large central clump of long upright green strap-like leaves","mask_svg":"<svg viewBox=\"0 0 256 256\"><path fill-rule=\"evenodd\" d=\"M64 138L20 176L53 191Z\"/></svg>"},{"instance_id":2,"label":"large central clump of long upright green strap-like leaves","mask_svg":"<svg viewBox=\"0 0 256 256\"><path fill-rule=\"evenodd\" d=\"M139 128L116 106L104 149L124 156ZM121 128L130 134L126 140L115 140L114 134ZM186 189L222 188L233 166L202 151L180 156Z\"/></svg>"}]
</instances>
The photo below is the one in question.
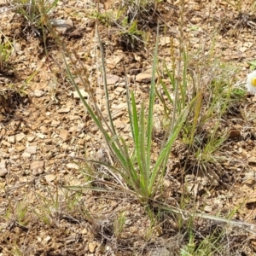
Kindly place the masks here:
<instances>
[{"instance_id":1,"label":"large central clump of long upright green strap-like leaves","mask_svg":"<svg viewBox=\"0 0 256 256\"><path fill-rule=\"evenodd\" d=\"M108 99L108 86L103 57L103 48L100 39L99 42L102 54L102 73L107 103L106 108L108 110L108 119L106 119L102 115L102 112L99 111L93 93L91 93L90 98L93 101L95 110L93 110L90 107L89 103L86 102L84 98L81 96L79 92L79 87L74 82L73 75L70 71L70 67L67 65L66 62L67 73L69 73L74 88L78 91L81 101L83 102L84 107L90 114L90 117L94 120L94 122L102 132L102 135L105 137L108 149L110 150L111 155L114 159L114 166L109 165L107 163L102 163L97 160L87 160L107 167L109 175L113 177L113 179L116 182L118 182L123 189L130 191L134 195L137 195L137 198L142 203L148 203L154 197L154 195L159 192L158 189L160 188L161 185L161 177L163 177L164 172L166 170L166 162L172 149L172 143L174 143L179 131L181 131L182 129L183 122L185 121L188 115L189 108L184 108L183 111L177 116L177 119L174 122L172 122L172 129L169 129L170 133L168 133L166 136L166 141L163 143L163 146L160 149L158 159L155 162L152 162L151 154L155 99L155 71L157 68L158 49L157 36L156 47L154 51L154 64L147 115L145 113L145 102L142 102L140 113L138 113L135 96L132 91L130 92L128 90L128 86L126 84L126 102L128 105L132 140L134 143L134 148L128 148L127 144L125 143L125 140L119 136L119 134L115 131L113 125L113 118ZM76 64L74 64L74 66L76 67ZM84 79L80 79L84 81ZM87 91L93 92L93 90L90 89L90 83L88 83L88 81L84 81L83 83ZM107 130L103 128L103 123L106 125ZM116 187L116 185L114 184L113 186ZM90 189L93 188L90 187Z\"/></svg>"}]
</instances>

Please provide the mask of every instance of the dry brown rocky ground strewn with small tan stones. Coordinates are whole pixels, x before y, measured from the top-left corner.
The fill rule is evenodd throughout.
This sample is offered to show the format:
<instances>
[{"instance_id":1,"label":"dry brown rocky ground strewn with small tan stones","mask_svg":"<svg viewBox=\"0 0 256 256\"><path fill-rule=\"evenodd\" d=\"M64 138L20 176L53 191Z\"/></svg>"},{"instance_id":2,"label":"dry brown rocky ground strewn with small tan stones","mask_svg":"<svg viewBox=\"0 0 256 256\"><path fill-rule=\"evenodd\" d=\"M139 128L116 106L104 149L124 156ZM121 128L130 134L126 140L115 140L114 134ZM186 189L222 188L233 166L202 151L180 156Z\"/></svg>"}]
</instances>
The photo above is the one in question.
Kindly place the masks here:
<instances>
[{"instance_id":1,"label":"dry brown rocky ground strewn with small tan stones","mask_svg":"<svg viewBox=\"0 0 256 256\"><path fill-rule=\"evenodd\" d=\"M3 0L0 4L1 45L13 45L8 61L2 57L0 62L0 255L177 255L188 238L177 227L176 217L162 214L156 223L131 195L79 189L91 180L84 172L94 177L95 172L104 171L100 167L89 170L84 161L73 157L105 160L108 148L68 79L54 38L48 34L44 38L43 30L29 26L17 12L17 4ZM148 99L157 20L159 61L169 65L173 58L170 49L178 45L179 3L161 1L145 9L138 20L142 41L121 37L119 26L108 21L120 6L113 0L58 1L49 18L65 22L65 26L55 25L55 30L83 62L104 113L96 37L99 8L113 122L129 141L123 64L136 98ZM184 11L184 44L191 55L196 56L202 45L205 55L212 50L214 58L237 67L234 81L241 88L250 72L248 61L256 59L256 7L252 6L253 1L243 1L239 11L223 0L186 1ZM3 56L3 49L0 53ZM77 83L84 90L79 79ZM90 100L86 91L82 93ZM232 218L248 224L256 224L255 102L255 96L247 95L236 106L236 114L227 119L230 138L218 154L228 160L209 167L214 170L214 181L202 184L193 177L191 182L193 189L197 186L192 189L195 201L191 206L195 203L204 212L226 217L235 211ZM156 116L163 112L160 102L155 111ZM158 148L161 128L157 121L155 127ZM176 147L181 149L179 143ZM175 177L183 154L183 150L173 152L164 183L165 202L174 206L182 194L181 182ZM198 220L198 241L217 225ZM219 227L221 230L222 224ZM226 248L216 255L256 255L256 230L224 230Z\"/></svg>"}]
</instances>

